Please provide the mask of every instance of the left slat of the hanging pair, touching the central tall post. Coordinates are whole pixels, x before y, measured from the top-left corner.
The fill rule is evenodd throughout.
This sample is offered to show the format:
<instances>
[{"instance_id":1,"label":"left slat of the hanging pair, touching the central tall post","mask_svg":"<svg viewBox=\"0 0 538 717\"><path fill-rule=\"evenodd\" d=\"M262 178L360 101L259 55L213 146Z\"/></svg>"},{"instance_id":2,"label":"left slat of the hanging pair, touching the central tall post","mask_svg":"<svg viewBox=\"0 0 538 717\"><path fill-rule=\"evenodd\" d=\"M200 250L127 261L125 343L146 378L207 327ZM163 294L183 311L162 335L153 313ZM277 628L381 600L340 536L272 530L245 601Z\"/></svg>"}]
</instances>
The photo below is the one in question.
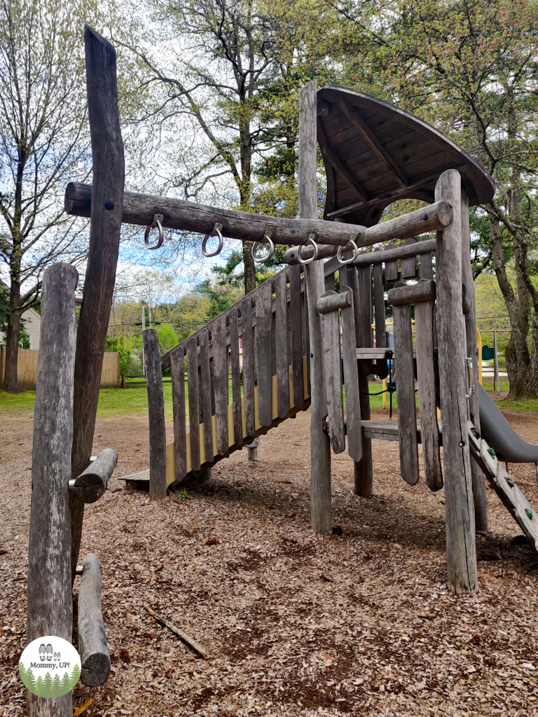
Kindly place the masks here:
<instances>
[{"instance_id":1,"label":"left slat of the hanging pair, touching the central tall post","mask_svg":"<svg viewBox=\"0 0 538 717\"><path fill-rule=\"evenodd\" d=\"M336 291L326 291L323 296L330 295L336 295ZM323 349L329 439L331 440L332 450L335 453L341 453L346 449L346 438L344 435L344 401L342 399L338 309L321 314L321 346Z\"/></svg>"}]
</instances>

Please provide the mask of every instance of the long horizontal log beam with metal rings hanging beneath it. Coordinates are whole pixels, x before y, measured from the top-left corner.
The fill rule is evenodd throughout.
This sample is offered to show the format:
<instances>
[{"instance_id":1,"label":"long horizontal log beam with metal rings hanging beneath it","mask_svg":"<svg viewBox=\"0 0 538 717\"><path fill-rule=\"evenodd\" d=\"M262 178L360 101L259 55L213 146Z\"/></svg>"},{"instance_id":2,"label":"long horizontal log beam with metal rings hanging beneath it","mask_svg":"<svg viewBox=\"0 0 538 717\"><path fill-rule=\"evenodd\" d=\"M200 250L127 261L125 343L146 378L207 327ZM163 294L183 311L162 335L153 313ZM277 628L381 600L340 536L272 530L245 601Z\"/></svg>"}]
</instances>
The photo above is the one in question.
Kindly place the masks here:
<instances>
[{"instance_id":1,"label":"long horizontal log beam with metal rings hanging beneath it","mask_svg":"<svg viewBox=\"0 0 538 717\"><path fill-rule=\"evenodd\" d=\"M92 202L92 188L89 184L70 182L65 190L64 208L75 217L89 217ZM155 214L163 214L163 227L181 229L187 232L209 234L215 222L222 224L222 234L230 239L260 242L266 234L274 244L304 244L314 234L319 244L333 244L335 247L362 237L365 227L358 224L325 222L323 219L284 219L266 217L265 214L237 212L194 201L172 199L169 196L138 194L126 191L123 194L123 224L139 224L147 227Z\"/></svg>"}]
</instances>

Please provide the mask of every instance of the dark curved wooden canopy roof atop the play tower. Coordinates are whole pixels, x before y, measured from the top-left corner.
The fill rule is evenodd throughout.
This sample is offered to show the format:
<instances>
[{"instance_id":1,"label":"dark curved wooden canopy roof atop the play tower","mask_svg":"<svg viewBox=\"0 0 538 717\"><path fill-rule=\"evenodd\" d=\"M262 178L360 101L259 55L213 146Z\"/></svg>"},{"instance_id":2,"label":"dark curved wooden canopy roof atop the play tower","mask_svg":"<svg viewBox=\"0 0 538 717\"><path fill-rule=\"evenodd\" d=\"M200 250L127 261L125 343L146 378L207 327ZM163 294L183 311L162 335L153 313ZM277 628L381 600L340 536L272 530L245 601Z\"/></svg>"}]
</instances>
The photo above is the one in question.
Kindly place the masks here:
<instances>
[{"instance_id":1,"label":"dark curved wooden canopy roof atop the play tower","mask_svg":"<svg viewBox=\"0 0 538 717\"><path fill-rule=\"evenodd\" d=\"M362 92L318 91L318 144L324 157L324 219L371 227L397 199L433 201L445 169L458 169L469 204L494 196L489 172L428 123Z\"/></svg>"}]
</instances>

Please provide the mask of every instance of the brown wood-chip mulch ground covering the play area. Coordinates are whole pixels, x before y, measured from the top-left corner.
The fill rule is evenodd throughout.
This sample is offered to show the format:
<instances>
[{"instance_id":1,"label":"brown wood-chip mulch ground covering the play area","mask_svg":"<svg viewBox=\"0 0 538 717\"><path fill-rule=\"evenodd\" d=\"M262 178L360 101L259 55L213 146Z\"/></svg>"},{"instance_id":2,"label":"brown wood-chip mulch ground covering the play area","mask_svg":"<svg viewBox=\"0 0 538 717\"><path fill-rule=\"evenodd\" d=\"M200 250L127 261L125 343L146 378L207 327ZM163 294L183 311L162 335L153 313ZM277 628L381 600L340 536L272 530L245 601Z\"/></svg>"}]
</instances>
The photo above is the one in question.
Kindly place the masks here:
<instances>
[{"instance_id":1,"label":"brown wood-chip mulch ground covering the play area","mask_svg":"<svg viewBox=\"0 0 538 717\"><path fill-rule=\"evenodd\" d=\"M25 713L32 419L1 416L0 717L11 717ZM506 417L538 442L536 414ZM82 555L103 565L113 667L102 688L77 685L75 714L538 716L538 556L496 495L477 536L480 592L450 594L443 491L402 481L396 442L373 443L372 498L352 493L351 460L333 456L338 527L311 533L309 419L263 437L258 462L223 460L186 498L149 504L115 477L88 506ZM95 452L105 446L120 455L115 476L147 467L147 421L98 420ZM538 508L534 465L510 469Z\"/></svg>"}]
</instances>

